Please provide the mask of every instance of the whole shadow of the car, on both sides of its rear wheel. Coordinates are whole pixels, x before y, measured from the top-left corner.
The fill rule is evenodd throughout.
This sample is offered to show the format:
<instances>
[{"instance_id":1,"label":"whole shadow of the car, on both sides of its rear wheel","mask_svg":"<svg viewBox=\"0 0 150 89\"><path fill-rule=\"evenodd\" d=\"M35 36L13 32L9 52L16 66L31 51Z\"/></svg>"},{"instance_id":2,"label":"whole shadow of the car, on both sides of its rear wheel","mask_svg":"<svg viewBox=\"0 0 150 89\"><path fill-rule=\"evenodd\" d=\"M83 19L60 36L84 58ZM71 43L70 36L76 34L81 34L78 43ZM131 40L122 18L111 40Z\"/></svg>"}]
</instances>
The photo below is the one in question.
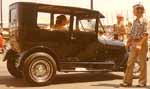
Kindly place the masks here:
<instances>
[{"instance_id":1,"label":"whole shadow of the car, on both sides of its rear wheel","mask_svg":"<svg viewBox=\"0 0 150 89\"><path fill-rule=\"evenodd\" d=\"M122 79L122 76L114 75L112 73L59 74L56 76L52 85L94 81L109 81L115 79ZM23 79L15 79L12 76L0 76L0 85L6 85L7 87L31 87Z\"/></svg>"}]
</instances>

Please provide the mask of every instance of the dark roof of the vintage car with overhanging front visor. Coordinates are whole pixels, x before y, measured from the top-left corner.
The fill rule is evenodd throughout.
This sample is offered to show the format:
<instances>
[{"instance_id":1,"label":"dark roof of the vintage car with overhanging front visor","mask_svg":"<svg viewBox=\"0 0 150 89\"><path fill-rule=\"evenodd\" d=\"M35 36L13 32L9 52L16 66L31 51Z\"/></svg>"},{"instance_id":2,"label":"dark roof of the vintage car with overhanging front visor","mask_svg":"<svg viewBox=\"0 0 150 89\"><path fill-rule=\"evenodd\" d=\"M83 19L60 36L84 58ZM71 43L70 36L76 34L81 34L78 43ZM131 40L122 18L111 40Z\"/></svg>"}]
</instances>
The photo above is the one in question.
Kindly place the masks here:
<instances>
[{"instance_id":1,"label":"dark roof of the vintage car with overhanging front visor","mask_svg":"<svg viewBox=\"0 0 150 89\"><path fill-rule=\"evenodd\" d=\"M30 5L38 7L39 11L43 12L53 12L53 13L60 13L60 14L71 14L75 16L84 15L87 17L99 17L104 18L104 15L96 10L86 9L86 8L79 8L79 7L71 7L71 6L60 6L60 5L50 5L50 4L40 4L40 3L33 3L33 2L16 2L11 4L10 6L18 4L18 5Z\"/></svg>"}]
</instances>

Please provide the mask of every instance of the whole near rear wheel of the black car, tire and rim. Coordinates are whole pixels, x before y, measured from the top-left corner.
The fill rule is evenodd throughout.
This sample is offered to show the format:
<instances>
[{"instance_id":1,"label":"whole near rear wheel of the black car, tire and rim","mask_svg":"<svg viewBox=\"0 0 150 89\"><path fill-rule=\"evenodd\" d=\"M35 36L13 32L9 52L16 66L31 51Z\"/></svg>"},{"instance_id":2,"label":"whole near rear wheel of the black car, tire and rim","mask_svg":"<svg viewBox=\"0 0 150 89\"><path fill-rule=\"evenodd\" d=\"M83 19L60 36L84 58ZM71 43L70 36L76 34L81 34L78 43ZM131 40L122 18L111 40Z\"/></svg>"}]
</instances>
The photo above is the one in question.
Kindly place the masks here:
<instances>
[{"instance_id":1,"label":"whole near rear wheel of the black car, tire and rim","mask_svg":"<svg viewBox=\"0 0 150 89\"><path fill-rule=\"evenodd\" d=\"M51 55L36 52L24 61L23 77L31 85L48 85L54 79L56 70L56 62Z\"/></svg>"}]
</instances>

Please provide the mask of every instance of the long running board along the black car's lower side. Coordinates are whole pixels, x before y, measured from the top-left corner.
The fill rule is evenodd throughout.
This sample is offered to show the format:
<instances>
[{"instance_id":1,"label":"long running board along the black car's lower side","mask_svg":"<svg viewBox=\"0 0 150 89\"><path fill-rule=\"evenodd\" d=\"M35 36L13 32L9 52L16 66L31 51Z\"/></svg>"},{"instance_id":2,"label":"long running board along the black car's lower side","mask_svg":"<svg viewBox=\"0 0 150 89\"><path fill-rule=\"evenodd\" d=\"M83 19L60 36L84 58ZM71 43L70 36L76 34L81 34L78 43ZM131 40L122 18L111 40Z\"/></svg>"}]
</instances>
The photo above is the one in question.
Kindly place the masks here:
<instances>
[{"instance_id":1,"label":"long running board along the black car's lower side","mask_svg":"<svg viewBox=\"0 0 150 89\"><path fill-rule=\"evenodd\" d=\"M90 71L112 71L115 63L107 62L61 62L60 71L62 72L90 72Z\"/></svg>"}]
</instances>

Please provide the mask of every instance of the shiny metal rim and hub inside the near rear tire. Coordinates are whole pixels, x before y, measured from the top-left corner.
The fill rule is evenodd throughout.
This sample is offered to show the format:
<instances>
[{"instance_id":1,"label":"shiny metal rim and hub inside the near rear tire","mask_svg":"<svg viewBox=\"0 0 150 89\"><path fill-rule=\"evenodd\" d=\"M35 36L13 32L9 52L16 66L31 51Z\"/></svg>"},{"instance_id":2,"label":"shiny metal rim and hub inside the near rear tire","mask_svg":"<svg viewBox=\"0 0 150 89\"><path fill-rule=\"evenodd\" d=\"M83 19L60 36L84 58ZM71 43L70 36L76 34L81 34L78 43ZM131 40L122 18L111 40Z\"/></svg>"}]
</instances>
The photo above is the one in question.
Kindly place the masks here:
<instances>
[{"instance_id":1,"label":"shiny metal rim and hub inside the near rear tire","mask_svg":"<svg viewBox=\"0 0 150 89\"><path fill-rule=\"evenodd\" d=\"M38 59L38 61L33 62L30 68L31 78L37 82L48 81L52 76L52 72L52 64L49 64L49 62L44 59Z\"/></svg>"}]
</instances>

